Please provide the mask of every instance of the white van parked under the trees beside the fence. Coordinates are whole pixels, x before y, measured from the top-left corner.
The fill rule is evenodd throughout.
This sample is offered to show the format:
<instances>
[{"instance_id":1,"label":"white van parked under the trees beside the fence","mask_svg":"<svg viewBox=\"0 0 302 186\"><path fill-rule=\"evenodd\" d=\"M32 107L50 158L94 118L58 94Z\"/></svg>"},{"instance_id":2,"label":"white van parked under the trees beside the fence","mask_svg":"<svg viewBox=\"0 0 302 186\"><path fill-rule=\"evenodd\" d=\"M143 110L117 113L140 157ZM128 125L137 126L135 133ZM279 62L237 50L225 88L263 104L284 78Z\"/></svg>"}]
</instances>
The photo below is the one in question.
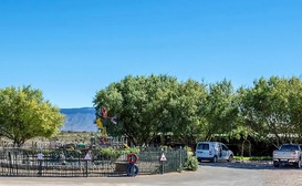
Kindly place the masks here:
<instances>
[{"instance_id":1,"label":"white van parked under the trees beside the fence","mask_svg":"<svg viewBox=\"0 0 302 186\"><path fill-rule=\"evenodd\" d=\"M232 162L233 153L225 144L220 142L198 142L196 146L196 157L199 162L218 161Z\"/></svg>"}]
</instances>

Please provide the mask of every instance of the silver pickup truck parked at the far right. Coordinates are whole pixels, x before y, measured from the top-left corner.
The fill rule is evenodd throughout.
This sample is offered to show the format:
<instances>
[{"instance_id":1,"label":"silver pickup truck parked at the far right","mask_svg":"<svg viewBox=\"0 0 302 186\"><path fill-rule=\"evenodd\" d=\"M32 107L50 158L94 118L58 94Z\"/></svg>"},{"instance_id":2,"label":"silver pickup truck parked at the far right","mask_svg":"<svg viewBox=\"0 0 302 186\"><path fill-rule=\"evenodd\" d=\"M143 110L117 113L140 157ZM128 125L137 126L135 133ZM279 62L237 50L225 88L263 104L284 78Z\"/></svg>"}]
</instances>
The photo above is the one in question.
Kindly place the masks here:
<instances>
[{"instance_id":1,"label":"silver pickup truck parked at the far right","mask_svg":"<svg viewBox=\"0 0 302 186\"><path fill-rule=\"evenodd\" d=\"M273 151L273 166L294 165L301 167L301 148L299 145L284 144L278 151Z\"/></svg>"}]
</instances>

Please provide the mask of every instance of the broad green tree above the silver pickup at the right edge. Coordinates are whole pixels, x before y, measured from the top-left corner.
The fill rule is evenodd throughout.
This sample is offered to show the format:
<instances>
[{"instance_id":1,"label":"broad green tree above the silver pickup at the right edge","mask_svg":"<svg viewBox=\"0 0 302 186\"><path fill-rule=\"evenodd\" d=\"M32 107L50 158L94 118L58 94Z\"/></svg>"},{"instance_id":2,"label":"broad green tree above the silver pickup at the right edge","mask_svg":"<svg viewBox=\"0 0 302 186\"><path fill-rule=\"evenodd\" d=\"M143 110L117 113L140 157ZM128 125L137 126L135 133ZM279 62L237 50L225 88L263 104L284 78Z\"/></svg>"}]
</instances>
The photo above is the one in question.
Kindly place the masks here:
<instances>
[{"instance_id":1,"label":"broad green tree above the silver pickup at the right edge","mask_svg":"<svg viewBox=\"0 0 302 186\"><path fill-rule=\"evenodd\" d=\"M246 91L241 113L247 126L275 145L301 140L302 83L298 78L261 78Z\"/></svg>"}]
</instances>

